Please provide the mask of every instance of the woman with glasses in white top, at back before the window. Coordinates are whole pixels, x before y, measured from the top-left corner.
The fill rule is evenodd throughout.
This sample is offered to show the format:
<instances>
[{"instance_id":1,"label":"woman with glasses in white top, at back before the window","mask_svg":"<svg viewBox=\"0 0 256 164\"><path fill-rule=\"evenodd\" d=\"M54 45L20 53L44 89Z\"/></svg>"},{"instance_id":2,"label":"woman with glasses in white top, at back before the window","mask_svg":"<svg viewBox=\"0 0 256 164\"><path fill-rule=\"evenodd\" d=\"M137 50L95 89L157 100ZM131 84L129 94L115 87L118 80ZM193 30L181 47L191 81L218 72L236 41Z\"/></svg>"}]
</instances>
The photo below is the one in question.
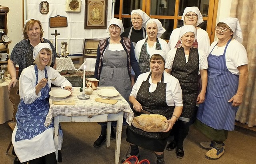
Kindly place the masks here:
<instances>
[{"instance_id":1,"label":"woman with glasses in white top, at back before the window","mask_svg":"<svg viewBox=\"0 0 256 164\"><path fill-rule=\"evenodd\" d=\"M181 19L183 20L184 25L193 25L196 27L197 39L195 40L193 47L199 48L203 50L205 53L208 53L208 50L210 47L210 39L209 39L208 33L202 28L197 27L199 24L204 22L203 16L200 13L200 10L198 9L198 7L195 7L195 6L186 7ZM179 40L180 39L179 34L180 34L180 28L175 28L172 31L170 40L168 42L168 46L170 47L170 49L180 47L181 42Z\"/></svg>"}]
</instances>

